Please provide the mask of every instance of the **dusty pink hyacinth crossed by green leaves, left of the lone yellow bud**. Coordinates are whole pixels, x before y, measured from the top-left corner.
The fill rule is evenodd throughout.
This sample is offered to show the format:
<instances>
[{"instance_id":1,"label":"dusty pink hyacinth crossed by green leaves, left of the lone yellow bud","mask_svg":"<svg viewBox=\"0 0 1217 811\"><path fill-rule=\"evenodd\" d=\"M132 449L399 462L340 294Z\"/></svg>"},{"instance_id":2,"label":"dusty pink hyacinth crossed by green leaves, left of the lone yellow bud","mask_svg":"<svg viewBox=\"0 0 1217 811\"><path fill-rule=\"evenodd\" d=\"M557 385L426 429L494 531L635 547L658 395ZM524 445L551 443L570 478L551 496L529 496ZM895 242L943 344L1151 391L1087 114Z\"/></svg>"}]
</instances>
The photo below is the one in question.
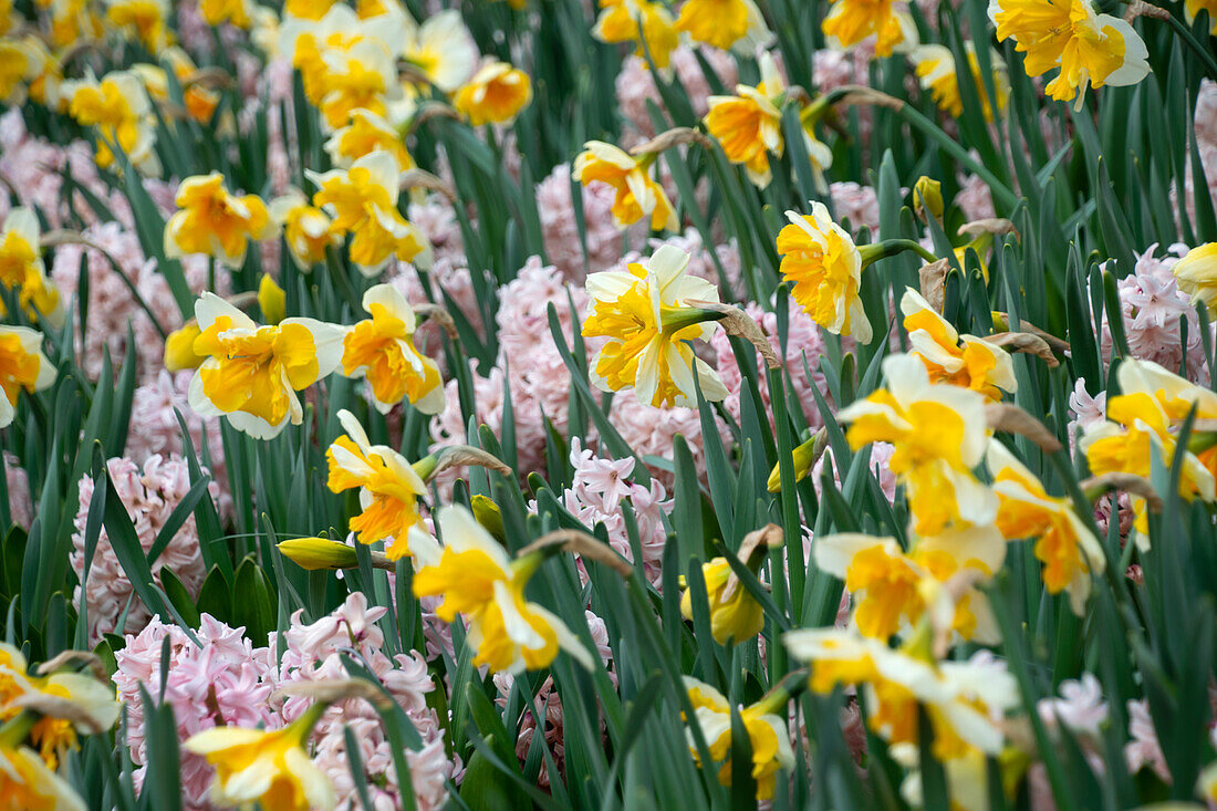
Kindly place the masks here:
<instances>
[{"instance_id":1,"label":"dusty pink hyacinth crossed by green leaves, left of the lone yellow bud","mask_svg":"<svg viewBox=\"0 0 1217 811\"><path fill-rule=\"evenodd\" d=\"M110 459L106 468L123 508L131 516L140 547L147 552L174 508L190 491L190 471L186 463L180 457L163 459L153 454L144 460L142 468L127 458ZM75 531L72 533L71 560L73 571L82 578L82 586L77 586L73 602L79 604L83 588L89 609L89 638L97 642L102 633L127 633L142 628L151 619L151 613L138 597L133 598L134 588L110 544L110 536L105 528L97 541L88 578L85 577L85 524L94 488L95 482L90 476L80 480L80 509L73 522ZM214 497L218 488L214 483L211 488ZM198 552L198 530L195 527L192 515L152 563L152 575L158 576L164 567L178 576L191 595L198 595L206 572ZM157 580L159 581L158 577ZM117 621L127 610L128 600L131 600L131 605L127 623L119 628Z\"/></svg>"}]
</instances>

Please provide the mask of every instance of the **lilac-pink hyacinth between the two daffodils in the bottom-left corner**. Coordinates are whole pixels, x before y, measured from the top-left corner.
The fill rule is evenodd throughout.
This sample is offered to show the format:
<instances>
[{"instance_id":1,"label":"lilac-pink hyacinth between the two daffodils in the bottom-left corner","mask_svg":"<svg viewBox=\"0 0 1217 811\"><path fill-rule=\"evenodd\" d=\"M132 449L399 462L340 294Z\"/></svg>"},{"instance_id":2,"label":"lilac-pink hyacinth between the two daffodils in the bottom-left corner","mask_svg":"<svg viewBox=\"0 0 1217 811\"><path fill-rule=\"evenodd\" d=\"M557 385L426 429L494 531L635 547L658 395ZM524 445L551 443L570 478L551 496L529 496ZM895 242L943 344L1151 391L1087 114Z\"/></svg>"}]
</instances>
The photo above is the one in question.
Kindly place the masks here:
<instances>
[{"instance_id":1,"label":"lilac-pink hyacinth between the two daffodils in the bottom-left corner","mask_svg":"<svg viewBox=\"0 0 1217 811\"><path fill-rule=\"evenodd\" d=\"M114 686L118 699L127 706L127 745L135 764L135 787L144 784L147 772L147 740L144 737L142 687L153 697L163 692L173 709L179 740L215 726L277 728L280 718L270 711L274 684L265 672L243 628L230 628L203 614L195 645L175 625L159 617L139 634L127 636L127 645L114 654L118 670ZM161 647L169 639L168 681L161 684ZM214 770L201 755L181 753L181 796L184 807L211 809L208 785Z\"/></svg>"}]
</instances>

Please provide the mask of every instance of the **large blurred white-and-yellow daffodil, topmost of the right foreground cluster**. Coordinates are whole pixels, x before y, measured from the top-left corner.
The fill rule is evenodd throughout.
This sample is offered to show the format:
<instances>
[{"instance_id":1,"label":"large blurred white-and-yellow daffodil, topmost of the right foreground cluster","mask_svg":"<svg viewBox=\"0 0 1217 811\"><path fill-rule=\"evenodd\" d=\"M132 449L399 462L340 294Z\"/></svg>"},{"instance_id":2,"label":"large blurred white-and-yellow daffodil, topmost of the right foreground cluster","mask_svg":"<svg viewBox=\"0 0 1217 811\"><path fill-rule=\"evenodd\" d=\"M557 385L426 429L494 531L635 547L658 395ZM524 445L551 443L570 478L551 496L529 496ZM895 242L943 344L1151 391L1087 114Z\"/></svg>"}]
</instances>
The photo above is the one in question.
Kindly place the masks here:
<instances>
[{"instance_id":1,"label":"large blurred white-and-yellow daffodil, topmost of the right foreground cluster","mask_svg":"<svg viewBox=\"0 0 1217 811\"><path fill-rule=\"evenodd\" d=\"M996 498L972 475L988 446L985 398L931 384L925 364L908 354L886 358L884 377L887 388L837 415L849 423L849 447L877 441L896 446L888 468L908 491L918 535L991 524Z\"/></svg>"}]
</instances>

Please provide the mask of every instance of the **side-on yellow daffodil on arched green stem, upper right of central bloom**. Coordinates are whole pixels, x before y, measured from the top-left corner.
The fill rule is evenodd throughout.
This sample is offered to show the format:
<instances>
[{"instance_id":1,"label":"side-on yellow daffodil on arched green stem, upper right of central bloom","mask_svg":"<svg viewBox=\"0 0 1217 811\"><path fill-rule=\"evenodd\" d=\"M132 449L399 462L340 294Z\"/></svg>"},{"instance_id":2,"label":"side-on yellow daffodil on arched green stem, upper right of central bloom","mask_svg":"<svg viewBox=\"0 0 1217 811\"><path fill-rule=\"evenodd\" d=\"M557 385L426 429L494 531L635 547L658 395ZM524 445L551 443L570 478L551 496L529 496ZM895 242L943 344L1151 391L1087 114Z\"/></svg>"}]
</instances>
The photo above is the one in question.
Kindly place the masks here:
<instances>
[{"instance_id":1,"label":"side-on yellow daffodil on arched green stem, upper right of central bloom","mask_svg":"<svg viewBox=\"0 0 1217 811\"><path fill-rule=\"evenodd\" d=\"M821 202L812 203L809 217L787 211L786 218L791 224L778 234L778 253L783 280L793 283L791 297L828 331L869 343L870 321L858 295L858 246Z\"/></svg>"}]
</instances>

